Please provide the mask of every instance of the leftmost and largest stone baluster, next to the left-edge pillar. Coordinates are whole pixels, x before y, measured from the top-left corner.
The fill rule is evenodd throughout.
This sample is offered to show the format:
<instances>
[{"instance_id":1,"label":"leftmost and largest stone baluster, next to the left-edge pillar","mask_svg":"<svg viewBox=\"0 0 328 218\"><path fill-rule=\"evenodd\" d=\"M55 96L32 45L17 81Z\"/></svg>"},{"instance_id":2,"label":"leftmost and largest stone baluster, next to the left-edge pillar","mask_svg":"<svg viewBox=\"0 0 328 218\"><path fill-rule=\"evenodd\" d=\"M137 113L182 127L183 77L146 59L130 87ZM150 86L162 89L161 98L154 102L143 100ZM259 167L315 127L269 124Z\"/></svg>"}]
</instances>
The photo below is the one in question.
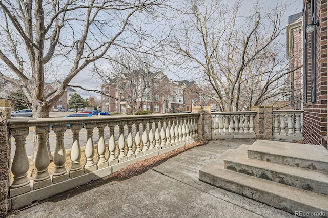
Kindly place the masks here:
<instances>
[{"instance_id":1,"label":"leftmost and largest stone baluster, next to the left-edge pillar","mask_svg":"<svg viewBox=\"0 0 328 218\"><path fill-rule=\"evenodd\" d=\"M15 138L16 150L11 165L14 181L10 186L10 197L31 191L31 182L27 177L27 171L30 165L25 149L28 134L28 127L11 129L11 135Z\"/></svg>"}]
</instances>

